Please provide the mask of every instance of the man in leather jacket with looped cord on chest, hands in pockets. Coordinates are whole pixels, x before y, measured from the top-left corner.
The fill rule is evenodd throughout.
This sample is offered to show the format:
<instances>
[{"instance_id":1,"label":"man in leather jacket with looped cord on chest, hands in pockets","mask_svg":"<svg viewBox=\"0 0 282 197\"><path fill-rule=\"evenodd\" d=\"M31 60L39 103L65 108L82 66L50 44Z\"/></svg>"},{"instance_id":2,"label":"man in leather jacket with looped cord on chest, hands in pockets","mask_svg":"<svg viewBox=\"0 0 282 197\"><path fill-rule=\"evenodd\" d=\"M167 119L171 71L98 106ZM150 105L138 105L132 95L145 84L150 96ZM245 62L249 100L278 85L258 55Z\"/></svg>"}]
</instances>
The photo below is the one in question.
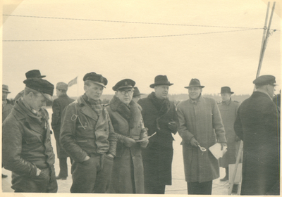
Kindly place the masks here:
<instances>
[{"instance_id":1,"label":"man in leather jacket with looped cord on chest, hands in pockets","mask_svg":"<svg viewBox=\"0 0 282 197\"><path fill-rule=\"evenodd\" d=\"M66 106L60 141L73 158L71 193L105 193L116 155L116 133L99 99L108 80L95 72L83 77L85 94Z\"/></svg>"}]
</instances>

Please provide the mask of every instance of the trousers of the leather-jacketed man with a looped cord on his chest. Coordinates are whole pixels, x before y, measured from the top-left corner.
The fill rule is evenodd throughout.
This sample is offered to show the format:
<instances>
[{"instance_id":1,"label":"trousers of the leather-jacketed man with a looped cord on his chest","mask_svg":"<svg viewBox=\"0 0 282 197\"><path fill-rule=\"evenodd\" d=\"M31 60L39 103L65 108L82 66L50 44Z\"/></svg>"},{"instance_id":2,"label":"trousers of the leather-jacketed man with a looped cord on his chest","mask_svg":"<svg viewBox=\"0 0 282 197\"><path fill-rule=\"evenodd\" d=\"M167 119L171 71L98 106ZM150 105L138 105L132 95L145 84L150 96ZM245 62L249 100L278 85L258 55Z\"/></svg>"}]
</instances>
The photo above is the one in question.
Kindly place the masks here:
<instances>
[{"instance_id":1,"label":"trousers of the leather-jacketed man with a looped cord on his chest","mask_svg":"<svg viewBox=\"0 0 282 197\"><path fill-rule=\"evenodd\" d=\"M105 154L92 154L82 163L73 162L71 193L105 193L111 180L114 158Z\"/></svg>"}]
</instances>

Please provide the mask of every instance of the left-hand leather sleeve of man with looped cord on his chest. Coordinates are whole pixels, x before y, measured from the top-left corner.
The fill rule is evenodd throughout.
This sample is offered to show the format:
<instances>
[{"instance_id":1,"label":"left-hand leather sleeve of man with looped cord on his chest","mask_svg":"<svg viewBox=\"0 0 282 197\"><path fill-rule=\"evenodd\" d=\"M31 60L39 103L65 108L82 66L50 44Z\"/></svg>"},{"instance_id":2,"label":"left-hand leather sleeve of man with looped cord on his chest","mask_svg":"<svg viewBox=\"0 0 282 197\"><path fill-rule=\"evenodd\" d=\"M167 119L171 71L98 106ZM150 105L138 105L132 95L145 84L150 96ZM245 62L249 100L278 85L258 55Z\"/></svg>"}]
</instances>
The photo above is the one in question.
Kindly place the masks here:
<instances>
[{"instance_id":1,"label":"left-hand leather sleeve of man with looped cord on his chest","mask_svg":"<svg viewBox=\"0 0 282 197\"><path fill-rule=\"evenodd\" d=\"M75 141L75 127L79 117L74 105L77 105L77 103L73 103L73 105L69 105L63 110L60 142L63 149L73 160L82 162L87 153Z\"/></svg>"}]
</instances>

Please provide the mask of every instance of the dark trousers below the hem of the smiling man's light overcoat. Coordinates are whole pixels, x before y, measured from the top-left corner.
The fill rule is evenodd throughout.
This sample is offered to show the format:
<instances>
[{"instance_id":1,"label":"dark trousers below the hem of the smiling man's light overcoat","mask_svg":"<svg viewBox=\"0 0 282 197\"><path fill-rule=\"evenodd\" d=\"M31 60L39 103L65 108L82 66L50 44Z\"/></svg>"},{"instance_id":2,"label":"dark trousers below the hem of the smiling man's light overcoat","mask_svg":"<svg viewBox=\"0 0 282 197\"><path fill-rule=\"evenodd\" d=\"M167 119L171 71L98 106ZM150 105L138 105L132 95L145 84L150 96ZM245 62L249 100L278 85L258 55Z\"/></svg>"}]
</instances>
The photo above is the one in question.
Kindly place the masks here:
<instances>
[{"instance_id":1,"label":"dark trousers below the hem of the smiling man's light overcoat","mask_svg":"<svg viewBox=\"0 0 282 197\"><path fill-rule=\"evenodd\" d=\"M212 181L187 183L188 194L212 195Z\"/></svg>"}]
</instances>

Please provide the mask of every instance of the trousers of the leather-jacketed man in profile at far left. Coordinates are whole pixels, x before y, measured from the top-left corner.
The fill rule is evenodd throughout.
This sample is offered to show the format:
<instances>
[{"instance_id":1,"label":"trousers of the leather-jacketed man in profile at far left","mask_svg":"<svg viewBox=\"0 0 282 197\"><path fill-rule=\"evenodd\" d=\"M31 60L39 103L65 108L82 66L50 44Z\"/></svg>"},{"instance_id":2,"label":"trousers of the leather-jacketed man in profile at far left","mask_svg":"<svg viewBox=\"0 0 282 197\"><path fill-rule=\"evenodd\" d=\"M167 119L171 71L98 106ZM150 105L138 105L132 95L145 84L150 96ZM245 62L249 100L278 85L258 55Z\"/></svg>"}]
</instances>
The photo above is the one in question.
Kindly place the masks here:
<instances>
[{"instance_id":1,"label":"trousers of the leather-jacketed man in profile at far left","mask_svg":"<svg viewBox=\"0 0 282 197\"><path fill-rule=\"evenodd\" d=\"M54 166L40 169L39 176L27 177L23 175L12 173L12 189L15 192L44 192L56 193L58 191L58 184L56 181L56 174Z\"/></svg>"}]
</instances>

